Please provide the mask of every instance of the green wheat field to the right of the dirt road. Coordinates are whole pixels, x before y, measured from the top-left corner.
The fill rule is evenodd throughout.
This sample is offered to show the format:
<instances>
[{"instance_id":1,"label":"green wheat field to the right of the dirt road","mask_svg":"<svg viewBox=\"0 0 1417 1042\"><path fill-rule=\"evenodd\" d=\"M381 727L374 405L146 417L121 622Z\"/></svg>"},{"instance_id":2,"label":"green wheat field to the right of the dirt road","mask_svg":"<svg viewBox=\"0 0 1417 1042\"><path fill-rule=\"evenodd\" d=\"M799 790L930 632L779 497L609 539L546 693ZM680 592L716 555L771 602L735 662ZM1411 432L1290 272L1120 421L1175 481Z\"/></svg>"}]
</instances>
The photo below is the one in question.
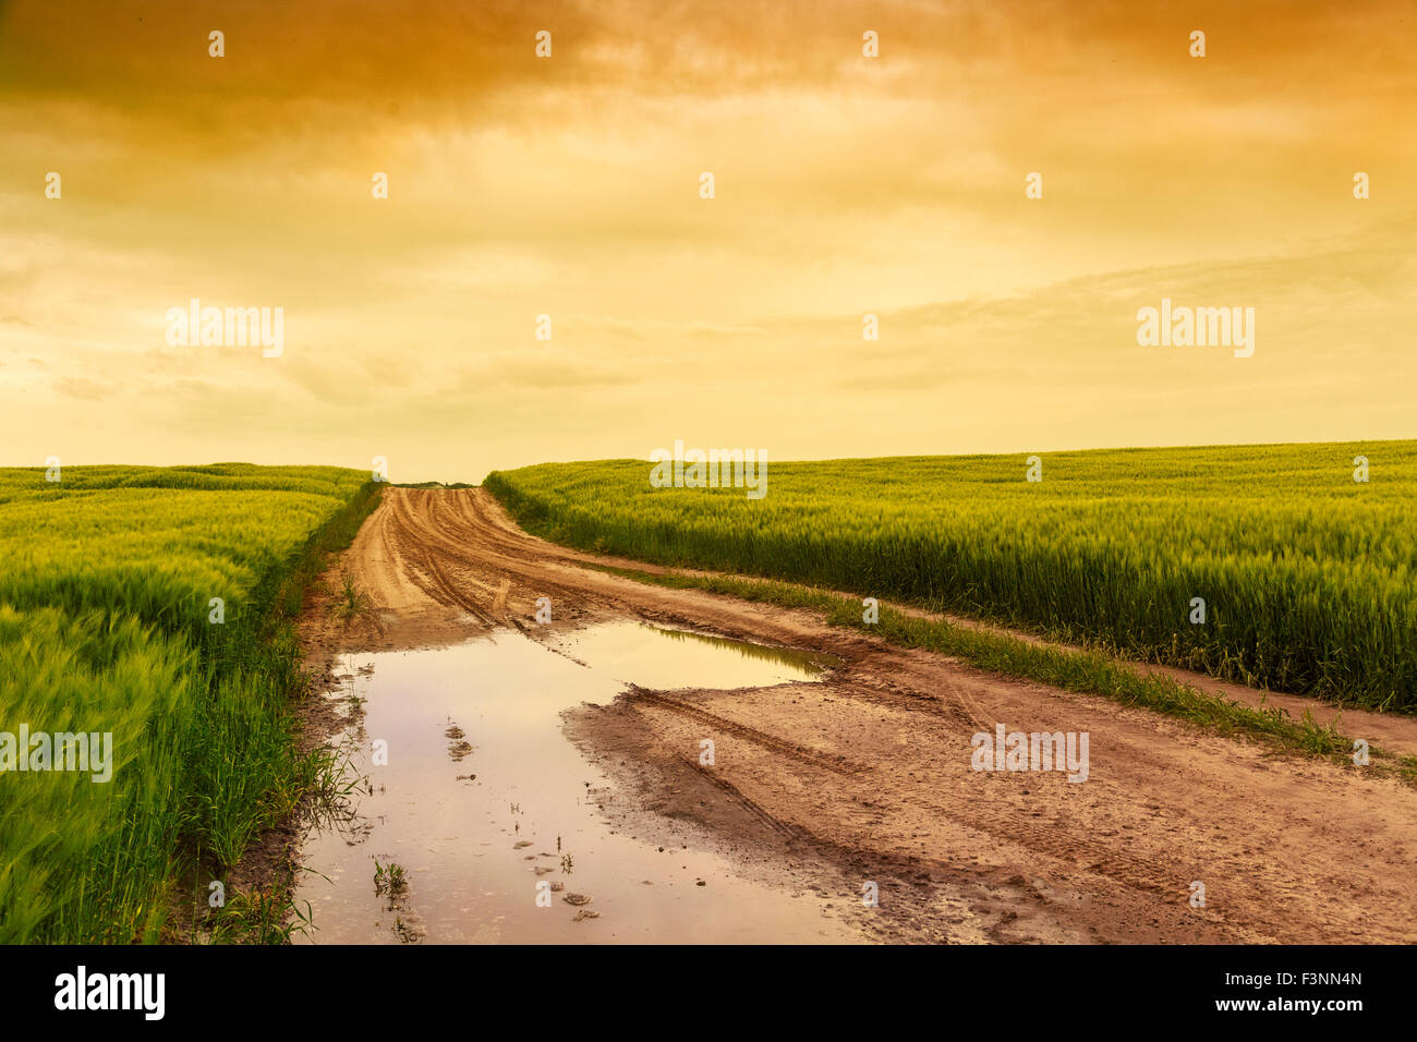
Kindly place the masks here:
<instances>
[{"instance_id":1,"label":"green wheat field to the right of the dirt road","mask_svg":"<svg viewBox=\"0 0 1417 1042\"><path fill-rule=\"evenodd\" d=\"M656 489L649 474L643 461L544 464L485 486L530 532L587 550L1417 710L1413 441L1044 454L1036 483L1024 454L769 464L760 500Z\"/></svg>"}]
</instances>

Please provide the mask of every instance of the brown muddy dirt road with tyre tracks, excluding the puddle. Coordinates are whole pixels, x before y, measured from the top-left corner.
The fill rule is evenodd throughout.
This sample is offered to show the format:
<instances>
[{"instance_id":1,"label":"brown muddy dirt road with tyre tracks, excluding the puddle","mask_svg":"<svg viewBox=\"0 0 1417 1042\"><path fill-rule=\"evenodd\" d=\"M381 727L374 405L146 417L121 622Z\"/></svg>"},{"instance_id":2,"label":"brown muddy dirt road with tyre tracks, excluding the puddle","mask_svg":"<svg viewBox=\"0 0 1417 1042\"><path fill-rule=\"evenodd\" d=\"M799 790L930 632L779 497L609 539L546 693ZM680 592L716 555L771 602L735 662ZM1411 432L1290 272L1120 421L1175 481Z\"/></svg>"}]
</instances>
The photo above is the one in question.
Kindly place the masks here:
<instances>
[{"instance_id":1,"label":"brown muddy dirt road with tyre tracks, excluding the puddle","mask_svg":"<svg viewBox=\"0 0 1417 1042\"><path fill-rule=\"evenodd\" d=\"M599 811L618 827L689 822L745 873L826 897L866 940L1417 940L1411 788L589 560L615 563L527 536L480 489L388 489L343 561L378 628L307 637L394 651L642 620L836 656L816 683L633 688L564 729L615 780ZM550 625L534 621L543 597ZM1414 740L1410 723L1383 722ZM996 724L1085 732L1087 780L972 770L971 737ZM1348 715L1345 729L1362 733ZM879 906L863 904L867 883Z\"/></svg>"}]
</instances>

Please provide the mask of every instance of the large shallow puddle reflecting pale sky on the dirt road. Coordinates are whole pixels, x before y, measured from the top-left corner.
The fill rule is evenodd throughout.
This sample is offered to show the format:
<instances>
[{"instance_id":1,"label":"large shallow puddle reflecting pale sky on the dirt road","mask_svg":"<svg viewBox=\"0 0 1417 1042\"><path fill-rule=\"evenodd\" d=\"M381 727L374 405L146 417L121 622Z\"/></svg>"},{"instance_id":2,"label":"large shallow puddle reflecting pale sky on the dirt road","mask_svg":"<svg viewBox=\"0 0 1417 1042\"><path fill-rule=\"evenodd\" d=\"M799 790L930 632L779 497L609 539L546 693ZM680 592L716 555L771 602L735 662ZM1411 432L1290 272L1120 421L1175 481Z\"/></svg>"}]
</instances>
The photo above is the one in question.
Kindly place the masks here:
<instances>
[{"instance_id":1,"label":"large shallow puddle reflecting pale sky on the dirt road","mask_svg":"<svg viewBox=\"0 0 1417 1042\"><path fill-rule=\"evenodd\" d=\"M296 900L310 904L315 943L859 940L815 895L738 878L708 851L611 832L597 790L612 783L561 733L561 710L606 705L628 682L764 686L815 679L828 661L638 624L564 634L554 648L497 631L336 669L344 698L363 700L346 749L373 791L305 841ZM374 743L387 743L387 764L374 766ZM557 886L541 887L548 907L538 883ZM564 900L575 895L591 900Z\"/></svg>"}]
</instances>

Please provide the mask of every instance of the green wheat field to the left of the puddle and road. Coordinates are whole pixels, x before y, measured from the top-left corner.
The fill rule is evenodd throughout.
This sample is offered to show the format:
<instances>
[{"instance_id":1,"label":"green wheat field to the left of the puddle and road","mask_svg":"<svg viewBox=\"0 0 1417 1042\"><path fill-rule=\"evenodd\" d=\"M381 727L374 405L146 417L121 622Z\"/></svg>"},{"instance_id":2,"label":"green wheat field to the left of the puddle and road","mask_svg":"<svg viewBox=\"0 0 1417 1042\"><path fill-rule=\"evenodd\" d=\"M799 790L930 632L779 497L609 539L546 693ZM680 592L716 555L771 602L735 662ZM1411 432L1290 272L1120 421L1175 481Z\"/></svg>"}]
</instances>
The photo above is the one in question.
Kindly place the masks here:
<instances>
[{"instance_id":1,"label":"green wheat field to the left of the puddle and road","mask_svg":"<svg viewBox=\"0 0 1417 1042\"><path fill-rule=\"evenodd\" d=\"M329 784L290 620L376 502L337 468L0 469L0 730L112 732L115 761L0 774L0 941L162 940L179 876Z\"/></svg>"}]
</instances>

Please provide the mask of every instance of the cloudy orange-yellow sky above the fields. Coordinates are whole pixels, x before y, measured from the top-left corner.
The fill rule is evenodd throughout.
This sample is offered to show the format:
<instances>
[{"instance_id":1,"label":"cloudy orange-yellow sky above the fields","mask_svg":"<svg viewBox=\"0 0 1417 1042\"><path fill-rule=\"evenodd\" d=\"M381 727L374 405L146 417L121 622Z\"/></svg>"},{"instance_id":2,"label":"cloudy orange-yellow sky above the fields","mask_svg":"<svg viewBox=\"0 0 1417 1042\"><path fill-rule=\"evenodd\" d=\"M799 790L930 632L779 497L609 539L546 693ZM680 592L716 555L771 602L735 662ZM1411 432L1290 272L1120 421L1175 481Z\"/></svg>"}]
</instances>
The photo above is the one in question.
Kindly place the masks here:
<instances>
[{"instance_id":1,"label":"cloudy orange-yellow sky above the fields","mask_svg":"<svg viewBox=\"0 0 1417 1042\"><path fill-rule=\"evenodd\" d=\"M1413 438L1414 54L1411 0L0 0L0 464Z\"/></svg>"}]
</instances>

